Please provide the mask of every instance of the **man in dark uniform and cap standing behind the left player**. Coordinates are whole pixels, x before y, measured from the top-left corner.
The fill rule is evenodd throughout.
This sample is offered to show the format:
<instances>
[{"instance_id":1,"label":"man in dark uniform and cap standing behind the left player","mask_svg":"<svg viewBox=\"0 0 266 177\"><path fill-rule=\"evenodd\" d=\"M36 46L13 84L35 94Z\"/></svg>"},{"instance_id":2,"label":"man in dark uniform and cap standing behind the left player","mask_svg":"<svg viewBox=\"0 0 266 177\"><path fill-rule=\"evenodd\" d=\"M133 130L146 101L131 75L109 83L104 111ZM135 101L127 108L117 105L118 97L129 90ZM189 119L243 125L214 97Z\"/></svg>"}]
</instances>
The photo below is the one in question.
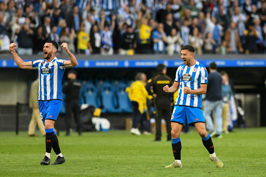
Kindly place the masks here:
<instances>
[{"instance_id":1,"label":"man in dark uniform and cap standing behind the left player","mask_svg":"<svg viewBox=\"0 0 266 177\"><path fill-rule=\"evenodd\" d=\"M66 94L66 135L70 135L72 112L77 124L77 132L82 134L81 123L79 119L79 102L81 83L77 80L77 71L70 70L67 74L68 81L66 82L63 93Z\"/></svg>"}]
</instances>

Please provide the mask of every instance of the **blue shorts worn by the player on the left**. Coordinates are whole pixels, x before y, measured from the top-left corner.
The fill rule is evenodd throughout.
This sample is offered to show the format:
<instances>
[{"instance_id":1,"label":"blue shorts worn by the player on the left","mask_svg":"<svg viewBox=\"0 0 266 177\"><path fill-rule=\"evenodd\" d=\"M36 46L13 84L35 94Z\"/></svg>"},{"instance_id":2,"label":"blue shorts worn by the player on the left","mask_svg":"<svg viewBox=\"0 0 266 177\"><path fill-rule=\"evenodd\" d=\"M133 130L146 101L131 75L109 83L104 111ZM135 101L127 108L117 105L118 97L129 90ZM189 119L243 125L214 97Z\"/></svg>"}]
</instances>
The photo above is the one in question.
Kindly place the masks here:
<instances>
[{"instance_id":1,"label":"blue shorts worn by the player on the left","mask_svg":"<svg viewBox=\"0 0 266 177\"><path fill-rule=\"evenodd\" d=\"M43 124L46 119L56 121L61 109L61 100L38 101Z\"/></svg>"}]
</instances>

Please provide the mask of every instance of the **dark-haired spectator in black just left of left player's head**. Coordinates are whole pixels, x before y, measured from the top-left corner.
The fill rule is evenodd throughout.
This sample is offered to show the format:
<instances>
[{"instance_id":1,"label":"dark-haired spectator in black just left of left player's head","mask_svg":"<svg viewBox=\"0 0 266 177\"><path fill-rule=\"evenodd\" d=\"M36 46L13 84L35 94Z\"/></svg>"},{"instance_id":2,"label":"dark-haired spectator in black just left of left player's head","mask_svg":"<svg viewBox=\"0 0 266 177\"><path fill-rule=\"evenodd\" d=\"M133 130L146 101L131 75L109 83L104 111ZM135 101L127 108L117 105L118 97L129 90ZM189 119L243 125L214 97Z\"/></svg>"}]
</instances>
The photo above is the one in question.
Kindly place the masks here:
<instances>
[{"instance_id":1,"label":"dark-haired spectator in black just left of left player's head","mask_svg":"<svg viewBox=\"0 0 266 177\"><path fill-rule=\"evenodd\" d=\"M43 27L39 26L36 29L35 36L33 38L34 41L34 47L33 47L33 53L38 55L43 55L43 45L45 44L45 41L47 41L47 38L45 38L42 35Z\"/></svg>"}]
</instances>

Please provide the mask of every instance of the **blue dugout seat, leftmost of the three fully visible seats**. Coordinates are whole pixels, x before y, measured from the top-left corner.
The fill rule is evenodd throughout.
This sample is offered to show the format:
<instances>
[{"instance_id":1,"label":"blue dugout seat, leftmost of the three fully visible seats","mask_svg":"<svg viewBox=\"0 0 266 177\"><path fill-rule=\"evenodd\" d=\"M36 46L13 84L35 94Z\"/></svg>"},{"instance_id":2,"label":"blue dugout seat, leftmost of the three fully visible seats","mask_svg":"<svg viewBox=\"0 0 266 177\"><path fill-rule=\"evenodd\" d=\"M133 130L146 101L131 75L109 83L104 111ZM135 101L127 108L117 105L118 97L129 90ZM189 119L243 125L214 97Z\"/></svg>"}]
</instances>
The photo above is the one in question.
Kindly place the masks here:
<instances>
[{"instance_id":1,"label":"blue dugout seat, leftmost of the three fully visible seats","mask_svg":"<svg viewBox=\"0 0 266 177\"><path fill-rule=\"evenodd\" d=\"M95 108L100 107L100 99L98 97L97 88L92 83L87 83L83 86L82 93L85 103L93 105Z\"/></svg>"}]
</instances>

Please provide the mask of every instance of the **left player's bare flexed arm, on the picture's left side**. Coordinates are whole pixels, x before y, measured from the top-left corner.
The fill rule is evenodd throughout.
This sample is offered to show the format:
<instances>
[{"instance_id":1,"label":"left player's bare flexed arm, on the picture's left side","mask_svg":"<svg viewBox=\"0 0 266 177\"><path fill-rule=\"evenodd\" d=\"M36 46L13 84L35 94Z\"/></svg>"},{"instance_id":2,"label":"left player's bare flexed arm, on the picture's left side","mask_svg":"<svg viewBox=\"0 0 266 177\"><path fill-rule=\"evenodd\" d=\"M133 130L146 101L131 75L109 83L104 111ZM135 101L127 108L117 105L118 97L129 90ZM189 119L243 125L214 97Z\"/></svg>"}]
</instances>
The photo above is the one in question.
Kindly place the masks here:
<instances>
[{"instance_id":1,"label":"left player's bare flexed arm, on the picture's left side","mask_svg":"<svg viewBox=\"0 0 266 177\"><path fill-rule=\"evenodd\" d=\"M28 61L28 62L25 62L23 61L18 55L17 55L17 52L15 51L15 49L17 48L17 44L16 43L11 43L9 45L9 50L17 64L17 66L19 68L22 68L22 69L31 69L33 70L33 67L32 67L32 62L31 61Z\"/></svg>"}]
</instances>

